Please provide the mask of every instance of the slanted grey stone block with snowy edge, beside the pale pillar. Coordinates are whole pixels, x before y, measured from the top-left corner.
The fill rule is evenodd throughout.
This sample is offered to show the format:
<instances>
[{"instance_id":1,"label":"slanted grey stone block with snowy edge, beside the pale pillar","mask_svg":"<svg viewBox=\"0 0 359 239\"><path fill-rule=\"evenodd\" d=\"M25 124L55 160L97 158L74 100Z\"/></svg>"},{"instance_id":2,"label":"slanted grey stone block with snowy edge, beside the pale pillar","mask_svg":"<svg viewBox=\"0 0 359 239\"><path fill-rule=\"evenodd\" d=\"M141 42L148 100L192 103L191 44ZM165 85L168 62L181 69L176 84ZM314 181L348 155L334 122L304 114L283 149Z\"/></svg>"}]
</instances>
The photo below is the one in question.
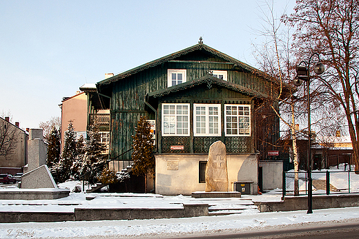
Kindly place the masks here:
<instances>
[{"instance_id":1,"label":"slanted grey stone block with snowy edge, beside the pale pillar","mask_svg":"<svg viewBox=\"0 0 359 239\"><path fill-rule=\"evenodd\" d=\"M55 188L57 185L47 165L42 165L21 176L21 189Z\"/></svg>"}]
</instances>

